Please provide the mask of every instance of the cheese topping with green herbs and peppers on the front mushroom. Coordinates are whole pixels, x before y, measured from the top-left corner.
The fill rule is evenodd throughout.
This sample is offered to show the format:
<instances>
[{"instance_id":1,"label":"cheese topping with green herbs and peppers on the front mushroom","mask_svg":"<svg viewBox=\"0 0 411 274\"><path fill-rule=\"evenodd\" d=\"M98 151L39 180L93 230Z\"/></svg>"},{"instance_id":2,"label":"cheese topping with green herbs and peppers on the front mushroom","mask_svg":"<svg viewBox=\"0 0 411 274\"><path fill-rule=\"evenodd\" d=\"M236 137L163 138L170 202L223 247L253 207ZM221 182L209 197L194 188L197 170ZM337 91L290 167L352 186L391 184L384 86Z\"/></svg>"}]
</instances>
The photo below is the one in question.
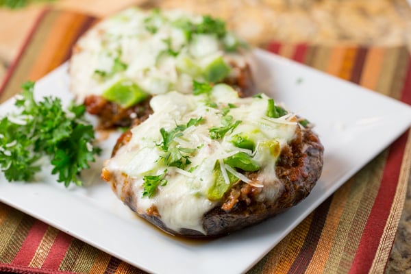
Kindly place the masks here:
<instances>
[{"instance_id":1,"label":"cheese topping with green herbs and peppers on the front mushroom","mask_svg":"<svg viewBox=\"0 0 411 274\"><path fill-rule=\"evenodd\" d=\"M275 162L299 125L293 114L266 116L270 100L238 98L225 84L199 95L155 96L154 113L132 128L105 169L128 177L140 214L155 206L167 227L203 232L203 214L239 180L263 188L259 201L277 199ZM250 179L246 171L258 176ZM119 197L122 188L116 181Z\"/></svg>"}]
</instances>

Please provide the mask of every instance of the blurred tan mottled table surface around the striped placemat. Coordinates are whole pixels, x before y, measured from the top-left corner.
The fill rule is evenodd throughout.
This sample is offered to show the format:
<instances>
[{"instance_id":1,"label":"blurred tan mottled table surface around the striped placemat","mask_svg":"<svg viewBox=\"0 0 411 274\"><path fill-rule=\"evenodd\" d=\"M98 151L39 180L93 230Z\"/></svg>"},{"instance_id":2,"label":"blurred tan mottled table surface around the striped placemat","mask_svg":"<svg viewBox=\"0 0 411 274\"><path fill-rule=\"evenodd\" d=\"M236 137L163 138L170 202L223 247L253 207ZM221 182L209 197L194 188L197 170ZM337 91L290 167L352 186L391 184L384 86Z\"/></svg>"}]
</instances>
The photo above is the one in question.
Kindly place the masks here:
<instances>
[{"instance_id":1,"label":"blurred tan mottled table surface around the striped placemat","mask_svg":"<svg viewBox=\"0 0 411 274\"><path fill-rule=\"evenodd\" d=\"M51 4L38 3L20 10L0 9L0 79L16 58L45 5L95 16L105 16L129 5L212 13L225 19L230 28L236 29L240 36L256 46L264 46L269 40L284 40L319 45L406 45L411 50L411 8L406 0L56 0ZM411 182L387 273L410 271L409 238Z\"/></svg>"}]
</instances>

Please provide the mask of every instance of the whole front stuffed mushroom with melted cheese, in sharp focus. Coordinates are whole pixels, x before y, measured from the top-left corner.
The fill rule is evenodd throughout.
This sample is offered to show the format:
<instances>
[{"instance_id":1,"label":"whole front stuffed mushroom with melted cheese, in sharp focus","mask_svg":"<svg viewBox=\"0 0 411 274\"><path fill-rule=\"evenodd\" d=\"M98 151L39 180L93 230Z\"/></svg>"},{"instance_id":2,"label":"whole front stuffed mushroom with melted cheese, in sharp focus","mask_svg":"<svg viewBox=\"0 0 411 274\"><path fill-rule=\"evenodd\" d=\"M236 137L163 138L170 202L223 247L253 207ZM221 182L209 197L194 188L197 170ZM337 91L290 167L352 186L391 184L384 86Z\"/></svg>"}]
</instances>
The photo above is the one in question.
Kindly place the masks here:
<instances>
[{"instance_id":1,"label":"whole front stuffed mushroom with melted cheese, in sharp focus","mask_svg":"<svg viewBox=\"0 0 411 274\"><path fill-rule=\"evenodd\" d=\"M101 177L166 232L222 236L295 206L321 175L323 146L265 95L195 82L150 101L153 114L119 138Z\"/></svg>"}]
</instances>

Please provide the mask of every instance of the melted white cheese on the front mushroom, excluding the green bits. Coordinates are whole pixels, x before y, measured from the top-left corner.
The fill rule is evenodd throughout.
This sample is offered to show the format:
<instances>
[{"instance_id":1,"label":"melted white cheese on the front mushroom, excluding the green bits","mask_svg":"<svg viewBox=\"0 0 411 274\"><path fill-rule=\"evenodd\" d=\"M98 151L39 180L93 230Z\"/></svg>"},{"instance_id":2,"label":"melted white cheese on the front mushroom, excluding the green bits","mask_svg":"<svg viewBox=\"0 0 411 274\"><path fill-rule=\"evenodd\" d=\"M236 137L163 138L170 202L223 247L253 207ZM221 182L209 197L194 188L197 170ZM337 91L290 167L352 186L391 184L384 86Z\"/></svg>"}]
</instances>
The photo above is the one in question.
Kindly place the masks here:
<instances>
[{"instance_id":1,"label":"melted white cheese on the front mushroom, excluding the green bits","mask_svg":"<svg viewBox=\"0 0 411 274\"><path fill-rule=\"evenodd\" d=\"M217 108L210 108L208 101L214 101ZM210 136L212 127L221 127L223 108L231 103L226 116L232 116L232 121L241 121L234 129L229 130L221 139ZM283 186L275 175L275 161L277 155L269 148L271 142L278 142L279 149L295 138L295 131L299 125L296 122L284 123L282 119L270 119L266 122L267 97L238 98L237 93L225 84L214 86L210 95L182 95L178 92L169 92L151 99L154 113L145 122L132 129L132 138L127 145L117 151L114 158L105 163L105 169L114 174L129 176L136 192L136 208L140 214L145 214L149 208L155 206L164 224L175 230L195 229L203 231L203 215L217 206L221 201L208 199L208 191L213 186L214 166L221 163L223 173L234 171L223 166L223 159L238 152L251 155L260 166L256 182L245 175L238 175L239 179L249 182L253 186L262 187L259 201L275 200ZM160 129L171 132L177 125L186 125L190 119L203 118L199 125L183 129L171 145L177 148L193 149L189 155L191 164L186 169L166 166L161 155L162 134ZM248 136L256 143L255 151L240 149L233 145L232 138L236 134ZM268 145L267 145L268 144ZM170 145L170 146L171 146ZM143 178L146 175L160 175L167 170L164 179L165 186L158 186L153 197L142 197L144 189ZM232 173L240 173L238 170ZM227 174L225 174L227 175ZM235 174L234 174L235 175ZM227 182L227 178L226 178ZM121 182L117 184L117 193L121 197Z\"/></svg>"}]
</instances>

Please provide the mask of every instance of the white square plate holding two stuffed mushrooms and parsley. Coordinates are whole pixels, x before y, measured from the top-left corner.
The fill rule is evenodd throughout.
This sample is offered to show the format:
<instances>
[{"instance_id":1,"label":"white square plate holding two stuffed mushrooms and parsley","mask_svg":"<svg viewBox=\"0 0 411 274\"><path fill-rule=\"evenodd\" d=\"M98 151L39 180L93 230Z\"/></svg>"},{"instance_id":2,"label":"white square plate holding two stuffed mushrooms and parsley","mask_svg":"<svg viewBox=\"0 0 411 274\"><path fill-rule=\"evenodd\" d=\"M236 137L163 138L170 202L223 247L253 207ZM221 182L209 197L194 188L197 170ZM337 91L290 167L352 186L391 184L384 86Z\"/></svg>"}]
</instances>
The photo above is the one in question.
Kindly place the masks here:
<instances>
[{"instance_id":1,"label":"white square plate holding two stuffed mushrooms and parsley","mask_svg":"<svg viewBox=\"0 0 411 274\"><path fill-rule=\"evenodd\" d=\"M45 168L32 183L8 183L0 175L0 201L145 271L247 271L411 124L409 105L260 49L253 53L259 90L314 122L325 147L321 179L294 208L223 238L191 241L167 236L136 217L99 179L115 134L103 142L101 159L84 172L84 188L65 189ZM72 95L66 71L63 64L38 81L36 98L55 95L68 103ZM13 109L10 100L0 106L0 113Z\"/></svg>"}]
</instances>

